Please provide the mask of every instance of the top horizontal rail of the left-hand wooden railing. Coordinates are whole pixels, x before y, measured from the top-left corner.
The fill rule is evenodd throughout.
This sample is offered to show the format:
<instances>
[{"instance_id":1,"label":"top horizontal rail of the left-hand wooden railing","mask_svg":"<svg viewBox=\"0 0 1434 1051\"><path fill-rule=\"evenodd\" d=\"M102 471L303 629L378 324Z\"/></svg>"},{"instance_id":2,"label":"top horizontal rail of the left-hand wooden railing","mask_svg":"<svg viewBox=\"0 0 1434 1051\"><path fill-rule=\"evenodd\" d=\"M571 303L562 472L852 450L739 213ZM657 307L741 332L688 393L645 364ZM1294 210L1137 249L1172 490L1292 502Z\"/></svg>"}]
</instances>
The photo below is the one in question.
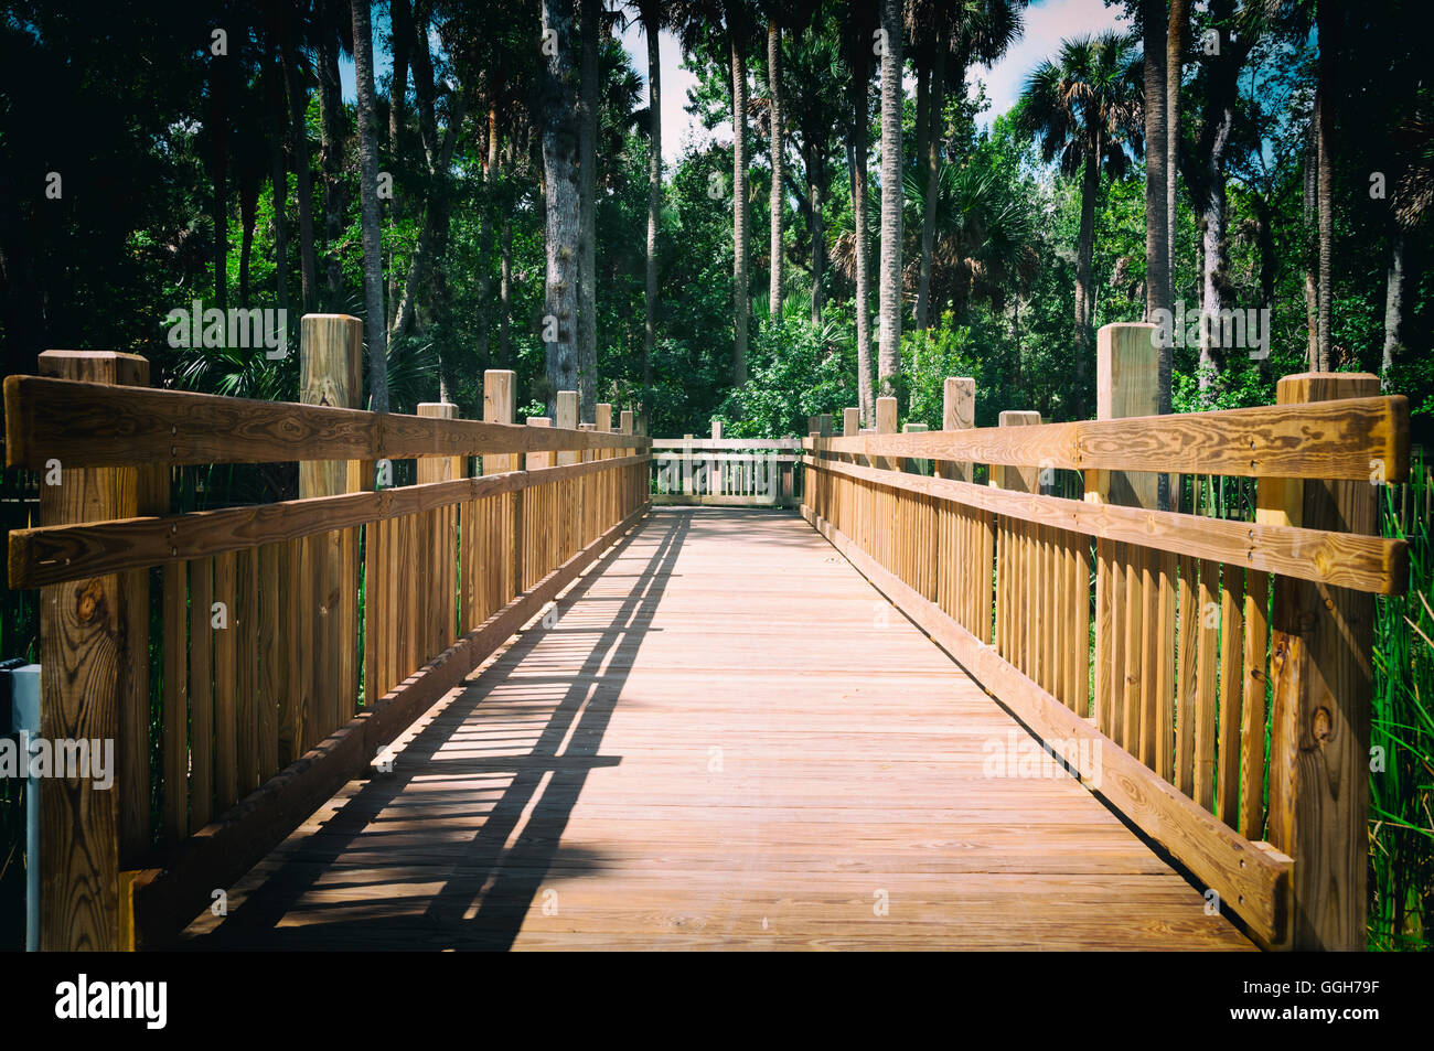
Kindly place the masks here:
<instances>
[{"instance_id":1,"label":"top horizontal rail of the left-hand wooden railing","mask_svg":"<svg viewBox=\"0 0 1434 1051\"><path fill-rule=\"evenodd\" d=\"M40 376L4 381L6 465L282 463L645 449L648 439Z\"/></svg>"}]
</instances>

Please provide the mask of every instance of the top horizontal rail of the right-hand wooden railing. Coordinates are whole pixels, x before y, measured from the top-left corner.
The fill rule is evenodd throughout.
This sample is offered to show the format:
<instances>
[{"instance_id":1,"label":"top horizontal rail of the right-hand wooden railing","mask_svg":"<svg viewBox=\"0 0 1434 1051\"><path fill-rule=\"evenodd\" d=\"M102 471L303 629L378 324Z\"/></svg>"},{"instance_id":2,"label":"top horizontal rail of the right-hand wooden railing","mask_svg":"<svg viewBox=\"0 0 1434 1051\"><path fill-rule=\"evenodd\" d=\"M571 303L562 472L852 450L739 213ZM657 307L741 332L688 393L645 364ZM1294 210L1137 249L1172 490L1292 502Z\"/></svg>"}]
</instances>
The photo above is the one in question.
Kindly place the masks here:
<instances>
[{"instance_id":1,"label":"top horizontal rail of the right-hand wooden railing","mask_svg":"<svg viewBox=\"0 0 1434 1051\"><path fill-rule=\"evenodd\" d=\"M1402 482L1408 400L1357 397L1120 420L807 437L820 453L1067 470Z\"/></svg>"}]
</instances>

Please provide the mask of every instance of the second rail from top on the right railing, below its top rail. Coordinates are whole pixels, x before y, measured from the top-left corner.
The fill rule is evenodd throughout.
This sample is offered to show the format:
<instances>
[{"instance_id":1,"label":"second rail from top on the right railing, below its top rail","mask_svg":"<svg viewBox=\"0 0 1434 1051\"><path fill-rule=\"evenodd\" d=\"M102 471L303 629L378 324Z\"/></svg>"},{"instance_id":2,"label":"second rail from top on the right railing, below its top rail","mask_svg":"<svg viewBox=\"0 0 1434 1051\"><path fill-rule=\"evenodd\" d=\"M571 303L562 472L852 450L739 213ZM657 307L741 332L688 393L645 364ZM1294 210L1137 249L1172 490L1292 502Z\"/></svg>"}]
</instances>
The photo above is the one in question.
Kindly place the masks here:
<instances>
[{"instance_id":1,"label":"second rail from top on the right railing, below its top rail","mask_svg":"<svg viewBox=\"0 0 1434 1051\"><path fill-rule=\"evenodd\" d=\"M1024 430L1030 430L1025 427ZM1007 489L803 457L803 465L845 477L951 500L1022 522L1067 529L1104 541L1123 541L1176 555L1230 562L1249 569L1332 584L1378 595L1408 586L1408 543L1400 539L1250 525L1111 503L1086 503Z\"/></svg>"}]
</instances>

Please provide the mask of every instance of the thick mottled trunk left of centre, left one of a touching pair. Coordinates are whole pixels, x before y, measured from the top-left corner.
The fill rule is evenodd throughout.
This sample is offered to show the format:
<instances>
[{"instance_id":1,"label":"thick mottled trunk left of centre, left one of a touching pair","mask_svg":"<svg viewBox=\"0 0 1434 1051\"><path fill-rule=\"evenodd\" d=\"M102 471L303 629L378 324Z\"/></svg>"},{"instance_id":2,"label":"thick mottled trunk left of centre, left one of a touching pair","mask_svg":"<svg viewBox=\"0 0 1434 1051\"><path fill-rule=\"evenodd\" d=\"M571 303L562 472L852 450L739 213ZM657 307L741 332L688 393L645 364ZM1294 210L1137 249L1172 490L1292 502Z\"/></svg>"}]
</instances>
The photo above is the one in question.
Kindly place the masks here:
<instances>
[{"instance_id":1,"label":"thick mottled trunk left of centre, left one of a touching pair","mask_svg":"<svg viewBox=\"0 0 1434 1051\"><path fill-rule=\"evenodd\" d=\"M543 36L552 33L542 76L542 166L546 245L548 414L556 419L558 391L576 390L575 323L578 310L578 100L574 87L575 43L569 0L542 0Z\"/></svg>"}]
</instances>

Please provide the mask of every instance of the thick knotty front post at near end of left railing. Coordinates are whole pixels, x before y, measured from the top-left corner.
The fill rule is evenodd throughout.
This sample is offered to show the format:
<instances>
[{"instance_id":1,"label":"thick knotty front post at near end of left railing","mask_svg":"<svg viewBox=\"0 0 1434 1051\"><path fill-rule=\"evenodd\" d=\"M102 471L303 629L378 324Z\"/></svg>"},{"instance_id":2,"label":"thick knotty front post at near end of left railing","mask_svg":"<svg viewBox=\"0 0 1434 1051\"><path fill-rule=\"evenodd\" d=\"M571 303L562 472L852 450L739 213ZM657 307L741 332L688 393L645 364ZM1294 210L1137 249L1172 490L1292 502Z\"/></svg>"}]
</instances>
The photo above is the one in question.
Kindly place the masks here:
<instances>
[{"instance_id":1,"label":"thick knotty front post at near end of left railing","mask_svg":"<svg viewBox=\"0 0 1434 1051\"><path fill-rule=\"evenodd\" d=\"M113 351L47 350L39 373L149 386L148 360ZM166 482L146 469L54 462L40 476L40 525L156 513ZM133 926L120 915L120 836L126 862L149 840L148 574L40 588L40 734L115 741L118 763L105 791L90 777L50 777L40 793L40 949L123 949L122 926Z\"/></svg>"}]
</instances>

